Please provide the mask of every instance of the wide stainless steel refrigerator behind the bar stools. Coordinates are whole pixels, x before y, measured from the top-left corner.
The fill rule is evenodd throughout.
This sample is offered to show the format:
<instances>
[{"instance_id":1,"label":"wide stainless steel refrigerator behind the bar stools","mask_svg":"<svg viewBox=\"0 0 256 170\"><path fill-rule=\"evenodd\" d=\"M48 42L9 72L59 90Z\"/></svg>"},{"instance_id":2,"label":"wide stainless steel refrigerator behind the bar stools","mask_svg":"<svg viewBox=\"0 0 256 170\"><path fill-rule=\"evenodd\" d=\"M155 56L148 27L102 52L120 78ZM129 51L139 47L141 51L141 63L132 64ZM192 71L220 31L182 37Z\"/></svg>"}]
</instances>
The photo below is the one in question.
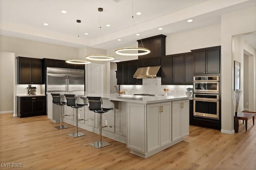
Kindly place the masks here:
<instances>
[{"instance_id":1,"label":"wide stainless steel refrigerator behind the bar stools","mask_svg":"<svg viewBox=\"0 0 256 170\"><path fill-rule=\"evenodd\" d=\"M84 70L47 67L48 93L84 91Z\"/></svg>"}]
</instances>

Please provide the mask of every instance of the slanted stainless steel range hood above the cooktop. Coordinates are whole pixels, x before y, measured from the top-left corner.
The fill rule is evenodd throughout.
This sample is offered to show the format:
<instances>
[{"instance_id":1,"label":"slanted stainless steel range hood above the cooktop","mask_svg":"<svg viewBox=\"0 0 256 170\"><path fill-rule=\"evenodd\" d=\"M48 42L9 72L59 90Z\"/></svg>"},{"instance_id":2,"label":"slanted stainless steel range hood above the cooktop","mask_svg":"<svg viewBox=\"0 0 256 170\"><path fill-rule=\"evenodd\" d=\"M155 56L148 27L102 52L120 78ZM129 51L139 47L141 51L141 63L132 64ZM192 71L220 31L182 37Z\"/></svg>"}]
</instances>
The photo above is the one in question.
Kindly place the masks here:
<instances>
[{"instance_id":1,"label":"slanted stainless steel range hood above the cooktop","mask_svg":"<svg viewBox=\"0 0 256 170\"><path fill-rule=\"evenodd\" d=\"M156 74L160 69L160 65L150 67L139 67L133 75L133 78L156 78Z\"/></svg>"}]
</instances>

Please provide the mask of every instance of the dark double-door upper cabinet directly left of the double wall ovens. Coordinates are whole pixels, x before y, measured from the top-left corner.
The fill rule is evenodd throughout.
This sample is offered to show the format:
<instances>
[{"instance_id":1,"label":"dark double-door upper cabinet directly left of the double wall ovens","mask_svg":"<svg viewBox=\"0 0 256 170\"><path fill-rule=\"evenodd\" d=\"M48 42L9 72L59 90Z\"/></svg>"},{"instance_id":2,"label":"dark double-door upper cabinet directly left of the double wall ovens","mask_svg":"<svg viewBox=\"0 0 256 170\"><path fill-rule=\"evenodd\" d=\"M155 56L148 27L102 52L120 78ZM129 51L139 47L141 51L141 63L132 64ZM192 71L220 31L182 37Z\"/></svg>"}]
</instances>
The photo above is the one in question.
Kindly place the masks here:
<instances>
[{"instance_id":1,"label":"dark double-door upper cabinet directly left of the double wall ovens","mask_svg":"<svg viewBox=\"0 0 256 170\"><path fill-rule=\"evenodd\" d=\"M180 55L172 57L172 84L193 83L193 55Z\"/></svg>"}]
</instances>

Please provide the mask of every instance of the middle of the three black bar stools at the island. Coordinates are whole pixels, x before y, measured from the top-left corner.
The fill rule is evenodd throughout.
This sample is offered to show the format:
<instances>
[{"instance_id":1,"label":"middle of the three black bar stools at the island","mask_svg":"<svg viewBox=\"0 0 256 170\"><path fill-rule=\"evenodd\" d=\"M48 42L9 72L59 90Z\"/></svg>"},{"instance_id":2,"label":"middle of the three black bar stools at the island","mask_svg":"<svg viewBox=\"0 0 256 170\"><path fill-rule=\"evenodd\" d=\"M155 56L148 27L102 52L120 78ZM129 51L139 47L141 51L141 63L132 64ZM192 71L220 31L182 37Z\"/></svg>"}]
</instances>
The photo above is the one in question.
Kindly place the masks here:
<instances>
[{"instance_id":1,"label":"middle of the three black bar stools at the island","mask_svg":"<svg viewBox=\"0 0 256 170\"><path fill-rule=\"evenodd\" d=\"M76 95L64 94L64 96L66 97L66 104L67 104L67 106L76 109L76 132L75 133L70 133L68 135L73 137L73 138L86 135L85 133L78 132L78 121L82 121L82 120L87 121L87 119L78 119L78 108L84 107L87 104L78 104L78 103L76 103L76 101L77 101L76 100Z\"/></svg>"}]
</instances>

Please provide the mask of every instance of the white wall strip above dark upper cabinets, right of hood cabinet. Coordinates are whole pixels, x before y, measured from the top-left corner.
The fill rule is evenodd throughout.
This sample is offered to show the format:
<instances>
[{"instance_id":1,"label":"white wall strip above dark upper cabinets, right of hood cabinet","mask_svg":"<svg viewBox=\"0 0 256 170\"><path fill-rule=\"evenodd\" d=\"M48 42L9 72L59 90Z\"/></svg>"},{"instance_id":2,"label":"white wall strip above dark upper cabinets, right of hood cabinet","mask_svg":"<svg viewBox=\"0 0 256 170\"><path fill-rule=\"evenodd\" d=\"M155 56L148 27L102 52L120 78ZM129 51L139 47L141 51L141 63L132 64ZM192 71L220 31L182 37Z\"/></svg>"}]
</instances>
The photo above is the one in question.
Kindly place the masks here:
<instances>
[{"instance_id":1,"label":"white wall strip above dark upper cabinets, right of hood cabinet","mask_svg":"<svg viewBox=\"0 0 256 170\"><path fill-rule=\"evenodd\" d=\"M213 47L221 44L220 24L166 37L166 55L190 52L191 49Z\"/></svg>"}]
</instances>

